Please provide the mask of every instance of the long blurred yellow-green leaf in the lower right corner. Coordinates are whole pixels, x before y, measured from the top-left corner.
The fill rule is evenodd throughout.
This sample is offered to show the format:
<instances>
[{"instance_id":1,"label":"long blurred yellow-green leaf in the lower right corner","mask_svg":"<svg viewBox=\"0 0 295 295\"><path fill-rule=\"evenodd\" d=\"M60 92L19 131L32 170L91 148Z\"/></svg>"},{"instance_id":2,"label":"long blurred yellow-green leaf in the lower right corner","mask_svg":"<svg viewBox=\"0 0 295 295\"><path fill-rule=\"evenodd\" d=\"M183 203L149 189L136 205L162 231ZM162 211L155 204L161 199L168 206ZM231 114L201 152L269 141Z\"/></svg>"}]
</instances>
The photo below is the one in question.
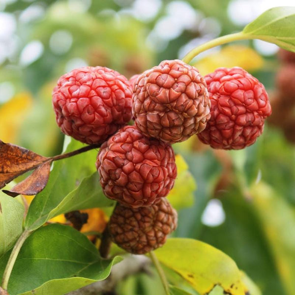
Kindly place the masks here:
<instances>
[{"instance_id":1,"label":"long blurred yellow-green leaf in the lower right corner","mask_svg":"<svg viewBox=\"0 0 295 295\"><path fill-rule=\"evenodd\" d=\"M250 192L286 292L294 295L295 213L282 197L263 182L253 185Z\"/></svg>"}]
</instances>

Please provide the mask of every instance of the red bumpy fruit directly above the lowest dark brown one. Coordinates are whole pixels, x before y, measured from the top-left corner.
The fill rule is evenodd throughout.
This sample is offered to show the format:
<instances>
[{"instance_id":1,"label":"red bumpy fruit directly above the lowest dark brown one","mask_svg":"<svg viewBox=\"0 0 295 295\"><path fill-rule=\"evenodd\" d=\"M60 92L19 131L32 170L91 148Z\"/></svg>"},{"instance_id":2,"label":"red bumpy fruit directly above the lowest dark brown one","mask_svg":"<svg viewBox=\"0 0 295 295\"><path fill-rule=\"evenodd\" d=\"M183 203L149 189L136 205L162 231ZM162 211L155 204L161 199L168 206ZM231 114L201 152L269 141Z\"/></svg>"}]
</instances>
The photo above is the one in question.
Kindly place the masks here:
<instances>
[{"instance_id":1,"label":"red bumpy fruit directly above the lowest dark brown one","mask_svg":"<svg viewBox=\"0 0 295 295\"><path fill-rule=\"evenodd\" d=\"M177 167L172 147L125 126L105 142L96 168L103 191L130 207L148 207L174 185Z\"/></svg>"}]
</instances>

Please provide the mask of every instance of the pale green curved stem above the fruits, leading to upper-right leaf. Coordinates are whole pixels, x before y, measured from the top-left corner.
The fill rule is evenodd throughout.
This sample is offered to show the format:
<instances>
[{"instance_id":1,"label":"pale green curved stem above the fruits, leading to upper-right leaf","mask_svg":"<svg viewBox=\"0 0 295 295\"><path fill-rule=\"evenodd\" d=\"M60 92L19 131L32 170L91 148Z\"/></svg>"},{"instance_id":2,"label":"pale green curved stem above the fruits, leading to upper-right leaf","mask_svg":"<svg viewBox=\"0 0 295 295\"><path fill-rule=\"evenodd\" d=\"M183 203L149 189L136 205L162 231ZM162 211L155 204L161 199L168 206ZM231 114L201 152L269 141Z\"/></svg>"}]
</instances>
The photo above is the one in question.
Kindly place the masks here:
<instances>
[{"instance_id":1,"label":"pale green curved stem above the fruits, leading to upper-right leaf","mask_svg":"<svg viewBox=\"0 0 295 295\"><path fill-rule=\"evenodd\" d=\"M237 41L237 40L246 40L246 39L254 39L253 36L244 34L243 32L238 32L230 35L225 35L213 40L210 40L193 50L191 50L183 59L182 61L185 63L189 63L194 57L196 57L198 54L200 54L203 51L206 51L207 49L229 43L232 41Z\"/></svg>"}]
</instances>

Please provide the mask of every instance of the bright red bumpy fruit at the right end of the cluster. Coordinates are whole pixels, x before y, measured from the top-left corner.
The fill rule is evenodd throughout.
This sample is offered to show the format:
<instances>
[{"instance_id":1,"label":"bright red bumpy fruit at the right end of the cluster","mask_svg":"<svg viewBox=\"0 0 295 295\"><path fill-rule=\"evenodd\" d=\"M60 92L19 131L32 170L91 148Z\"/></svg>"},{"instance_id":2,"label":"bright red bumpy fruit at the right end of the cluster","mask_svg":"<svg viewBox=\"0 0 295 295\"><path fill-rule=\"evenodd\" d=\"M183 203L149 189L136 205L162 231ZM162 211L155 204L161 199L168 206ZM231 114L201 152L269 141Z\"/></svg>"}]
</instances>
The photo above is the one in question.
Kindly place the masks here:
<instances>
[{"instance_id":1,"label":"bright red bumpy fruit at the right end of the cluster","mask_svg":"<svg viewBox=\"0 0 295 295\"><path fill-rule=\"evenodd\" d=\"M271 107L264 86L239 67L205 76L211 118L199 139L212 148L240 149L255 143Z\"/></svg>"}]
</instances>

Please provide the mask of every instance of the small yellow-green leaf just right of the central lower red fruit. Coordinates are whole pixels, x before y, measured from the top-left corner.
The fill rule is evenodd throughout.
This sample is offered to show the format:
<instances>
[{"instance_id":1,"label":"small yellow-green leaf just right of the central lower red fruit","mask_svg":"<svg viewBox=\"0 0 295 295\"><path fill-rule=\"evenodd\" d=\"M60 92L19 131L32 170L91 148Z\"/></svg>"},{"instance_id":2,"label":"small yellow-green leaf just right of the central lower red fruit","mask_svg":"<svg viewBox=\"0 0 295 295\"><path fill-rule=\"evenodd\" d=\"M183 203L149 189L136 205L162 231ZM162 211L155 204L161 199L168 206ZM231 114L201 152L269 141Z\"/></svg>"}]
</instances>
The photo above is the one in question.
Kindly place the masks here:
<instances>
[{"instance_id":1,"label":"small yellow-green leaf just right of the central lower red fruit","mask_svg":"<svg viewBox=\"0 0 295 295\"><path fill-rule=\"evenodd\" d=\"M177 210L191 207L194 204L194 191L197 188L196 181L188 170L184 158L177 154L175 157L177 165L177 178L173 189L167 196L171 205Z\"/></svg>"}]
</instances>

